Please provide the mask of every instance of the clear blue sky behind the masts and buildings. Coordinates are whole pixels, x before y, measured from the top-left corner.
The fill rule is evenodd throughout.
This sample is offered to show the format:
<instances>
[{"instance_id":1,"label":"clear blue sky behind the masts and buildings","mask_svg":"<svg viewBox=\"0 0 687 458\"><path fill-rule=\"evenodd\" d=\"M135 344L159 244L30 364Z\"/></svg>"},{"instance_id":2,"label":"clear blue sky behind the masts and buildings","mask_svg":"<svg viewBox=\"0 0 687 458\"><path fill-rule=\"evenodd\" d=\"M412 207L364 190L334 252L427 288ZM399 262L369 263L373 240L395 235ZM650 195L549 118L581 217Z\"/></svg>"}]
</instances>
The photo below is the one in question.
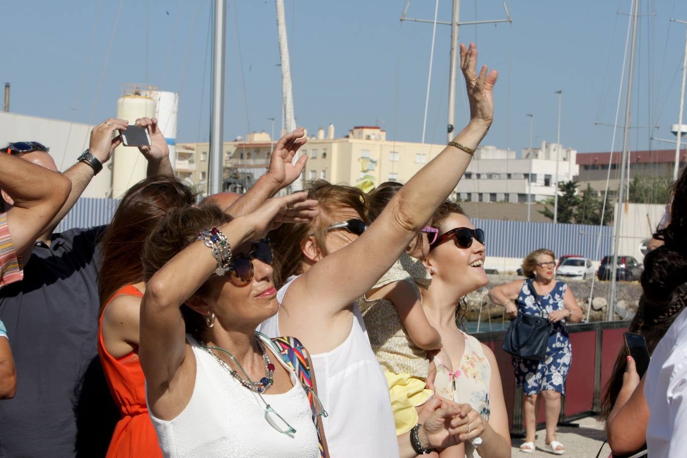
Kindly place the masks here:
<instances>
[{"instance_id":1,"label":"clear blue sky behind the masts and buildings","mask_svg":"<svg viewBox=\"0 0 687 458\"><path fill-rule=\"evenodd\" d=\"M399 25L403 3L285 0L297 124L314 133L333 122L339 136L354 125L380 122L388 139L420 141L432 26ZM609 150L612 129L594 122L613 123L630 3L510 1L512 25L461 27L460 41L476 41L480 62L500 71L495 122L483 144L526 148L526 113L534 114L535 144L555 141L554 91L562 89L562 143L581 152ZM177 141L207 141L211 3L147 4L148 14L146 1L123 2L93 111L120 2L3 1L0 82L12 84L11 110L77 122L89 122L93 111L97 123L115 115L123 83L148 83L180 92ZM407 15L432 19L434 5L414 0ZM668 22L687 20L676 5L677 0L642 1L642 13L655 14L640 18L632 104L634 124L660 124L654 135L671 139L687 27ZM450 16L451 1L440 0L439 19ZM498 0L462 2L463 21L503 17ZM427 142L444 141L449 36L450 27L438 25ZM277 119L278 131L278 62L274 2L227 0L225 139L249 129L269 132L269 117ZM462 89L457 108L460 128L467 119ZM631 147L648 148L649 137L646 128L633 130ZM654 142L653 148L673 146Z\"/></svg>"}]
</instances>

